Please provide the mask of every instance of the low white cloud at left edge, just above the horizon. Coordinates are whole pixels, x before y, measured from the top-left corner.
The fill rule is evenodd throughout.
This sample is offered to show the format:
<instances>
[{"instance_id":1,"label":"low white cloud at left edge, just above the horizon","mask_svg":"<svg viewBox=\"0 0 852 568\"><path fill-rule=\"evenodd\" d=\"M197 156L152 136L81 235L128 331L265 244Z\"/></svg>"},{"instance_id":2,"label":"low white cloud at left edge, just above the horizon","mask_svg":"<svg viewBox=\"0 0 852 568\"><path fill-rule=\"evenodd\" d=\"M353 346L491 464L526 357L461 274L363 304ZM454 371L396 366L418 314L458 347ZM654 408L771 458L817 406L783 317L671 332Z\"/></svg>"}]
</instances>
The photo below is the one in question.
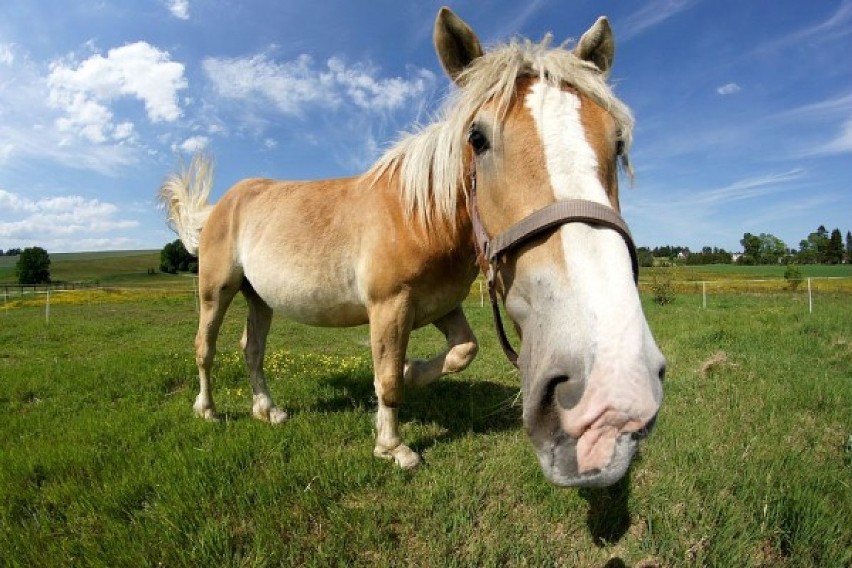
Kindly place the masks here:
<instances>
[{"instance_id":1,"label":"low white cloud at left edge, just above the horizon","mask_svg":"<svg viewBox=\"0 0 852 568\"><path fill-rule=\"evenodd\" d=\"M116 219L118 208L99 199L66 195L30 199L0 189L0 237L16 241L61 242L76 235L132 229L138 221Z\"/></svg>"}]
</instances>

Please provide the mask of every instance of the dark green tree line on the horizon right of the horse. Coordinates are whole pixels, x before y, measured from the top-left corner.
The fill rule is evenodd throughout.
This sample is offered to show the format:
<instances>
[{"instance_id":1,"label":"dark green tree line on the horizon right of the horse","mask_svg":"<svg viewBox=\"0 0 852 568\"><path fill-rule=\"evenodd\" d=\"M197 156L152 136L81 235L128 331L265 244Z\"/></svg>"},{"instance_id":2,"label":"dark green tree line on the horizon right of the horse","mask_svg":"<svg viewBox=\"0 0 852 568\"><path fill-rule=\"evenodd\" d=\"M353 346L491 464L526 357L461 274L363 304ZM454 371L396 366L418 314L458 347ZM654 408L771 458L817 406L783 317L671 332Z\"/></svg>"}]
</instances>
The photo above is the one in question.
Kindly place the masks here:
<instances>
[{"instance_id":1,"label":"dark green tree line on the horizon right of the horse","mask_svg":"<svg viewBox=\"0 0 852 568\"><path fill-rule=\"evenodd\" d=\"M655 259L688 265L701 264L841 264L852 263L852 231L846 231L844 243L840 229L830 233L824 225L799 241L798 249L770 233L743 234L740 239L742 253L734 253L717 247L702 247L691 251L683 246L639 247L639 264L654 266Z\"/></svg>"}]
</instances>

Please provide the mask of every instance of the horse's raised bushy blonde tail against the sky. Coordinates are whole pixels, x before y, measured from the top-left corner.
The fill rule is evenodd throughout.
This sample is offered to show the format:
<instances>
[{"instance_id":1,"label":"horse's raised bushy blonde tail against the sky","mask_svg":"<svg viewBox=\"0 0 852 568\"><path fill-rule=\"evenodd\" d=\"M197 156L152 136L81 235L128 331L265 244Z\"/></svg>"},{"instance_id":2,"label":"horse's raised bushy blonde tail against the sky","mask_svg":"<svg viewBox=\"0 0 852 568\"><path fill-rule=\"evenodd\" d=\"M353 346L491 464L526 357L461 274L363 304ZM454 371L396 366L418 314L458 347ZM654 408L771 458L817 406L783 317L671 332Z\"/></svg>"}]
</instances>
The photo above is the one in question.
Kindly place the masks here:
<instances>
[{"instance_id":1,"label":"horse's raised bushy blonde tail against the sky","mask_svg":"<svg viewBox=\"0 0 852 568\"><path fill-rule=\"evenodd\" d=\"M198 236L213 206L207 203L213 187L213 158L197 152L189 163L166 178L160 187L160 203L169 227L178 234L190 254L198 254Z\"/></svg>"}]
</instances>

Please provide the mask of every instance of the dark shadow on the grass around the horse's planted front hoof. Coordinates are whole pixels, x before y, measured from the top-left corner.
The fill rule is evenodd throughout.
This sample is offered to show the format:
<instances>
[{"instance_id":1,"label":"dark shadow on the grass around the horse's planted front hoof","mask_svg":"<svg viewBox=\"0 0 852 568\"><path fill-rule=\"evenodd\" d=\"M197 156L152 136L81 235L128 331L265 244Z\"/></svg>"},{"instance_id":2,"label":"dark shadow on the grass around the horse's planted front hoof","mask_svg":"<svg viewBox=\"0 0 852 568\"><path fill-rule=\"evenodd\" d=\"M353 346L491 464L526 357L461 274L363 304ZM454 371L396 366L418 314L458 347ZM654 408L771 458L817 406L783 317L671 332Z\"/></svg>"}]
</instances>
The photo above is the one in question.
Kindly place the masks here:
<instances>
[{"instance_id":1,"label":"dark shadow on the grass around the horse's planted front hoof","mask_svg":"<svg viewBox=\"0 0 852 568\"><path fill-rule=\"evenodd\" d=\"M323 381L344 395L318 401L317 412L375 409L376 394L369 371L340 374ZM487 434L519 428L521 408L513 404L518 389L482 379L443 378L425 387L408 387L400 406L402 422L435 422L444 434L412 440L412 449L423 450L438 440L453 440L466 433Z\"/></svg>"}]
</instances>

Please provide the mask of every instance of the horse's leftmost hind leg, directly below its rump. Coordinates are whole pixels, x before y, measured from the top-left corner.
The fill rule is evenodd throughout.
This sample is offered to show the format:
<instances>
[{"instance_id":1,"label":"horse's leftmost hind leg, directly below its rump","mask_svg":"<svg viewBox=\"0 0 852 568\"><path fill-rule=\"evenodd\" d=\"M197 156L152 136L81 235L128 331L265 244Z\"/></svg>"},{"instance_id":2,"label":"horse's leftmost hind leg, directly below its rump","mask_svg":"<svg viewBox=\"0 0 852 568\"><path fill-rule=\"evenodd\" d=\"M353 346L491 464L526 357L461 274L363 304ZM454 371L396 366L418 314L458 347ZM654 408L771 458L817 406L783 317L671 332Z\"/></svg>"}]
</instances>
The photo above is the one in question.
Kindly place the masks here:
<instances>
[{"instance_id":1,"label":"horse's leftmost hind leg, directly below its rump","mask_svg":"<svg viewBox=\"0 0 852 568\"><path fill-rule=\"evenodd\" d=\"M195 363L198 365L199 391L192 408L195 414L205 420L218 420L213 395L210 392L210 370L216 356L216 339L219 328L231 300L234 299L238 282L222 283L218 279L205 278L199 274L198 291L200 296L198 333L195 335Z\"/></svg>"}]
</instances>

